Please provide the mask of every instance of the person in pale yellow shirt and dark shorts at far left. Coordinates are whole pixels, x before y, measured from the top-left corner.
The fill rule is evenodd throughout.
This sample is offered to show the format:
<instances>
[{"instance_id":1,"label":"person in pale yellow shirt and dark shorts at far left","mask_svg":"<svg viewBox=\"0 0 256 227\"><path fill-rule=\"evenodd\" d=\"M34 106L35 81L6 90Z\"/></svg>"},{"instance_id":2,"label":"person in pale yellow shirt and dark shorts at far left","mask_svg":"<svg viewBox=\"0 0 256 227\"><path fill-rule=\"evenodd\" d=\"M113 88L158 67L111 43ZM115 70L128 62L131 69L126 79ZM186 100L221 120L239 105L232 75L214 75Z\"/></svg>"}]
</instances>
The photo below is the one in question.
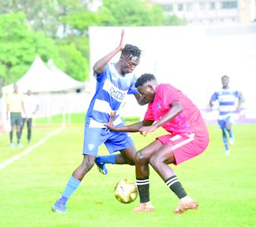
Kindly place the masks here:
<instances>
[{"instance_id":1,"label":"person in pale yellow shirt and dark shorts at far left","mask_svg":"<svg viewBox=\"0 0 256 227\"><path fill-rule=\"evenodd\" d=\"M11 117L11 132L10 132L10 148L14 148L15 145L12 141L13 139L13 131L16 126L16 136L17 136L17 147L23 148L24 146L21 144L21 110L24 110L23 103L23 95L18 92L18 86L14 83L14 92L11 92L7 95L6 98L6 114L7 120L9 120L9 113ZM24 110L26 113L26 111Z\"/></svg>"}]
</instances>

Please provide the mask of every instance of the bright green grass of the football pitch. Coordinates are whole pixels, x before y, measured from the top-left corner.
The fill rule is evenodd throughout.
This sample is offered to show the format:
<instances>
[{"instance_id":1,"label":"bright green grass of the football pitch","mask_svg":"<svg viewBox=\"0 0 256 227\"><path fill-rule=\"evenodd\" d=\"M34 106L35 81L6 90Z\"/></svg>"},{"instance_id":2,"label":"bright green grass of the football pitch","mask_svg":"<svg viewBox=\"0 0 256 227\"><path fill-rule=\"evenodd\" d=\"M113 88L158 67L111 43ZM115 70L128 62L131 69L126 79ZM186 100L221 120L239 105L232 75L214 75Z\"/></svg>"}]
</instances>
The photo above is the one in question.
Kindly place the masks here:
<instances>
[{"instance_id":1,"label":"bright green grass of the football pitch","mask_svg":"<svg viewBox=\"0 0 256 227\"><path fill-rule=\"evenodd\" d=\"M68 201L65 215L52 213L51 206L62 194L74 168L81 163L84 117L72 119L58 135L32 153L0 169L0 226L255 226L256 225L256 125L235 125L235 145L224 155L218 126L209 126L210 145L200 156L172 166L188 194L200 204L198 210L174 215L178 199L151 169L150 198L155 213L131 213L139 203L121 204L114 197L120 179L134 180L133 166L108 165L103 176L96 166L84 177ZM61 121L60 121L61 122ZM33 129L33 142L55 127ZM0 135L0 163L24 148L8 148L8 133ZM163 134L158 130L157 134ZM137 149L153 141L131 134ZM100 148L100 154L107 154Z\"/></svg>"}]
</instances>

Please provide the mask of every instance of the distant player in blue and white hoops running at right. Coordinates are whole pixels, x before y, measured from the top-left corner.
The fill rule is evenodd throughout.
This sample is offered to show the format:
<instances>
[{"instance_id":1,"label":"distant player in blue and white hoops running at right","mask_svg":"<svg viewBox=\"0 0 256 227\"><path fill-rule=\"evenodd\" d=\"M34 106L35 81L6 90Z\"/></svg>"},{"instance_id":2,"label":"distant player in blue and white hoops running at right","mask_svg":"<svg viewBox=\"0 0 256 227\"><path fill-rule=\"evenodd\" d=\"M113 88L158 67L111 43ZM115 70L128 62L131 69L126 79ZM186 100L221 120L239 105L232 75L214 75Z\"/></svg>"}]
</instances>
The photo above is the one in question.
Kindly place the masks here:
<instances>
[{"instance_id":1,"label":"distant player in blue and white hoops running at right","mask_svg":"<svg viewBox=\"0 0 256 227\"><path fill-rule=\"evenodd\" d=\"M229 155L229 145L234 145L235 142L235 135L232 130L233 115L235 112L239 112L243 98L241 92L229 88L229 76L222 76L221 82L223 84L223 88L218 92L214 92L211 96L210 107L213 107L214 101L219 101L220 113L218 123L223 132L225 154Z\"/></svg>"}]
</instances>

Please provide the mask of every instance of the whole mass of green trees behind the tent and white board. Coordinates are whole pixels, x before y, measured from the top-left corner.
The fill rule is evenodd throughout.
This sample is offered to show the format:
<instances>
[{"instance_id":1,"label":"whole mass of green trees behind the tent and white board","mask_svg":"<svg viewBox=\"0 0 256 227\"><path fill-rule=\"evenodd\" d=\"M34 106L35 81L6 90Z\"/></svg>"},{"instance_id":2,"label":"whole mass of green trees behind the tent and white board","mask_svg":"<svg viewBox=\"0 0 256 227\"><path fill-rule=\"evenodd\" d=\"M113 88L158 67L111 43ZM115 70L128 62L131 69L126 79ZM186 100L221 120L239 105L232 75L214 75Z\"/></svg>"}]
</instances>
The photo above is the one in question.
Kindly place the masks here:
<instances>
[{"instance_id":1,"label":"whole mass of green trees behind the tent and white board","mask_svg":"<svg viewBox=\"0 0 256 227\"><path fill-rule=\"evenodd\" d=\"M89 76L89 26L180 25L160 6L141 0L0 0L0 78L8 84L26 73L36 55L84 81ZM1 88L0 88L1 89Z\"/></svg>"}]
</instances>

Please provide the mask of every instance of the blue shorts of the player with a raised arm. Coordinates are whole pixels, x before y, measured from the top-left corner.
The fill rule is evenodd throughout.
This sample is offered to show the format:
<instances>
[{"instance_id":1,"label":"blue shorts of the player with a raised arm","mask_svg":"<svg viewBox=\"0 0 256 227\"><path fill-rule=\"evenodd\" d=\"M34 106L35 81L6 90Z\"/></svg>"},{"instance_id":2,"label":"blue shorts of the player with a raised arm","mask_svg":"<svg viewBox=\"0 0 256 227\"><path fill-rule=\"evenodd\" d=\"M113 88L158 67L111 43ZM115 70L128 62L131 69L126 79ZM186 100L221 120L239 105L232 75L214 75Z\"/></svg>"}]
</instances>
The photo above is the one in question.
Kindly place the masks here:
<instances>
[{"instance_id":1,"label":"blue shorts of the player with a raised arm","mask_svg":"<svg viewBox=\"0 0 256 227\"><path fill-rule=\"evenodd\" d=\"M96 157L100 145L103 144L106 145L110 154L134 146L134 142L128 132L112 132L106 128L85 127L83 154Z\"/></svg>"}]
</instances>

